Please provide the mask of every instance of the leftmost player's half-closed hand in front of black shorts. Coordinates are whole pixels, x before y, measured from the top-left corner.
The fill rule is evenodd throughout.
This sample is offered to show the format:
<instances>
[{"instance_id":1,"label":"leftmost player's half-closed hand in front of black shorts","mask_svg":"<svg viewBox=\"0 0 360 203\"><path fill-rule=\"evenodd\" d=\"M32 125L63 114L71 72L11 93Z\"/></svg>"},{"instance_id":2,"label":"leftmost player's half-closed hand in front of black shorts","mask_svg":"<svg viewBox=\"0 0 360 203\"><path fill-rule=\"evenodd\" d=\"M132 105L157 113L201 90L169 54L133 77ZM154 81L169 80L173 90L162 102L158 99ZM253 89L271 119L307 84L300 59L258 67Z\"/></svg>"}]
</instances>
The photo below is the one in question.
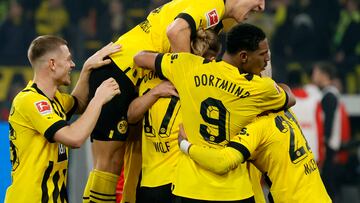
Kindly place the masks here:
<instances>
[{"instance_id":1,"label":"leftmost player's half-closed hand in front of black shorts","mask_svg":"<svg viewBox=\"0 0 360 203\"><path fill-rule=\"evenodd\" d=\"M114 78L109 78L102 82L96 89L94 98L98 99L104 105L118 94L120 94L119 84Z\"/></svg>"}]
</instances>

